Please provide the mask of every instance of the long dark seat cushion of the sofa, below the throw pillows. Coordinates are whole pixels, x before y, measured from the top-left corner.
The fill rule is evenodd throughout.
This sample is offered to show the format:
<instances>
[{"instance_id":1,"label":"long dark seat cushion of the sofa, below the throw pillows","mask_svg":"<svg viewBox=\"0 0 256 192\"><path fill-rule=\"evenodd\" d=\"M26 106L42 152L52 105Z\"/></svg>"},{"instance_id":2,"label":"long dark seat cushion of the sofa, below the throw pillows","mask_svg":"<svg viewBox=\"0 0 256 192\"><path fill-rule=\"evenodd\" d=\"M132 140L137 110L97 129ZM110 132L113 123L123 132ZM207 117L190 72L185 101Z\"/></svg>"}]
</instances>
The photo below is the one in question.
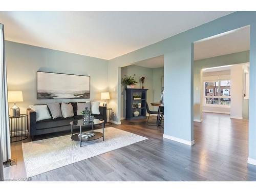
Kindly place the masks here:
<instances>
[{"instance_id":1,"label":"long dark seat cushion of the sofa, below the throw pillows","mask_svg":"<svg viewBox=\"0 0 256 192\"><path fill-rule=\"evenodd\" d=\"M36 122L36 129L41 130L41 129L49 129L52 127L58 127L58 126L66 126L69 125L71 121L73 121L74 118L72 117L67 117L67 118L56 118L56 119L46 119L46 120L41 120Z\"/></svg>"}]
</instances>

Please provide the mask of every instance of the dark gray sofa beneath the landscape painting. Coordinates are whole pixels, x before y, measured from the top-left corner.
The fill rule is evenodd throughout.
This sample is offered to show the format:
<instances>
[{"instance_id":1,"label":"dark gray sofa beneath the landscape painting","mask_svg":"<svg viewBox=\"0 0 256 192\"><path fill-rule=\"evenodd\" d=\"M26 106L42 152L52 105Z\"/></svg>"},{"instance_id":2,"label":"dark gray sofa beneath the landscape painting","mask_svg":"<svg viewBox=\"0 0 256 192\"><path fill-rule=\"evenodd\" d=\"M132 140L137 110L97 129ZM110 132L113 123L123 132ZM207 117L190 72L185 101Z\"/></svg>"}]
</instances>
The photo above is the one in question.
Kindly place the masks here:
<instances>
[{"instance_id":1,"label":"dark gray sofa beneath the landscape painting","mask_svg":"<svg viewBox=\"0 0 256 192\"><path fill-rule=\"evenodd\" d=\"M71 104L74 109L73 117L45 119L45 120L41 120L41 121L37 121L37 122L36 122L36 112L31 109L27 109L28 131L29 131L29 135L31 136L32 141L34 140L35 135L42 135L42 134L71 130L71 125L69 123L76 119L82 119L81 115L77 115L77 103L71 102ZM103 119L104 122L106 122L106 107L99 106L99 112L100 112L99 115L93 114L94 117L96 119ZM73 129L75 129L75 128L76 127L73 127Z\"/></svg>"}]
</instances>

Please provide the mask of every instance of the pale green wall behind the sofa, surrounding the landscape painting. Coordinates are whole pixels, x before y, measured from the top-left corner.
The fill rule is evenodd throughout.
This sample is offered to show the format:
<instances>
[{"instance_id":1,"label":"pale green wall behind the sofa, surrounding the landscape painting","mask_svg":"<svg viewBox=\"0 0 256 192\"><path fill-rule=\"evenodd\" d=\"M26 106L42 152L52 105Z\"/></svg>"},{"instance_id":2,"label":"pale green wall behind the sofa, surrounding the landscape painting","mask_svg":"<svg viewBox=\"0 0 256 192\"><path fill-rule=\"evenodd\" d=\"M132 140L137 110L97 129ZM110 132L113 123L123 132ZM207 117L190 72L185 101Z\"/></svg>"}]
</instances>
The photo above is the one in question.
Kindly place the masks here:
<instances>
[{"instance_id":1,"label":"pale green wall behind the sofa, surrounding the landscape painting","mask_svg":"<svg viewBox=\"0 0 256 192\"><path fill-rule=\"evenodd\" d=\"M5 41L5 45L8 90L23 91L24 102L17 103L22 113L26 113L30 104L62 101L36 99L36 71L91 76L91 98L63 99L65 102L100 100L100 92L108 91L107 60L12 41Z\"/></svg>"}]
</instances>

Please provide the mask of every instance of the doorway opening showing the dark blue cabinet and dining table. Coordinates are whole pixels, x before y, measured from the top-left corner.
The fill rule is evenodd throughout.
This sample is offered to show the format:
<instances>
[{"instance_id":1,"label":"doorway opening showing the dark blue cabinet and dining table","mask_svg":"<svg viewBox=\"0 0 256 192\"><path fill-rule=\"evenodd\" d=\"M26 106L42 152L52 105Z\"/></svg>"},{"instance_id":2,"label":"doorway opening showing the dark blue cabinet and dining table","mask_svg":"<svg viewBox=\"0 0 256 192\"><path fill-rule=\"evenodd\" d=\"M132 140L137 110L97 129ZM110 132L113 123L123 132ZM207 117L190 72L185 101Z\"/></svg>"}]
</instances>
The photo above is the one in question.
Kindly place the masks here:
<instances>
[{"instance_id":1,"label":"doorway opening showing the dark blue cabinet and dining table","mask_svg":"<svg viewBox=\"0 0 256 192\"><path fill-rule=\"evenodd\" d=\"M133 78L130 87L124 79ZM121 67L121 120L163 128L164 56L145 59ZM161 104L162 103L162 104Z\"/></svg>"}]
</instances>

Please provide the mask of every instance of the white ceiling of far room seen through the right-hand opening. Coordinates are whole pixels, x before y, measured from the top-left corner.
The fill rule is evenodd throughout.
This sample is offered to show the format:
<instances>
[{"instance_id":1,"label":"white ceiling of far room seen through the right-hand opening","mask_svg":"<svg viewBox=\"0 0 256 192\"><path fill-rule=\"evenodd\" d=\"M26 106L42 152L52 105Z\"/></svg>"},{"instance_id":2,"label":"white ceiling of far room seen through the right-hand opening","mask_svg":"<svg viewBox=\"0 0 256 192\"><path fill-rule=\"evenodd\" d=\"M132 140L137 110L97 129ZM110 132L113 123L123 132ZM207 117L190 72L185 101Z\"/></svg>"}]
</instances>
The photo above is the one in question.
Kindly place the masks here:
<instances>
[{"instance_id":1,"label":"white ceiling of far room seen through the right-hand opening","mask_svg":"<svg viewBox=\"0 0 256 192\"><path fill-rule=\"evenodd\" d=\"M245 27L194 44L194 59L204 59L250 50L250 28Z\"/></svg>"}]
</instances>

